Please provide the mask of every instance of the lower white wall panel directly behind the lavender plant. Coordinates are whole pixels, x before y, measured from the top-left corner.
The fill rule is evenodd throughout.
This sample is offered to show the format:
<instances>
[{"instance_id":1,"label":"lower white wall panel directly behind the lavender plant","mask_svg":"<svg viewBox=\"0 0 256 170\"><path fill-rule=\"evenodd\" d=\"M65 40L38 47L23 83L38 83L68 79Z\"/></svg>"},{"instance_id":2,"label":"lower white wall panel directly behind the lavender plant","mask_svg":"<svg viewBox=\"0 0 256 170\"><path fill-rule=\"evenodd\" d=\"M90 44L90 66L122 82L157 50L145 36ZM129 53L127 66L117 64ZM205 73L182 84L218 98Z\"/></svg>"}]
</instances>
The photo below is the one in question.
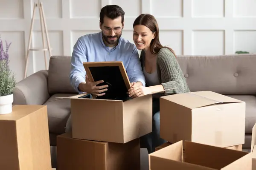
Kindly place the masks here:
<instances>
[{"instance_id":1,"label":"lower white wall panel directly behind the lavender plant","mask_svg":"<svg viewBox=\"0 0 256 170\"><path fill-rule=\"evenodd\" d=\"M25 45L23 31L1 31L1 39L6 47L11 42L9 47L10 68L15 74L16 81L22 80L25 69Z\"/></svg>"}]
</instances>

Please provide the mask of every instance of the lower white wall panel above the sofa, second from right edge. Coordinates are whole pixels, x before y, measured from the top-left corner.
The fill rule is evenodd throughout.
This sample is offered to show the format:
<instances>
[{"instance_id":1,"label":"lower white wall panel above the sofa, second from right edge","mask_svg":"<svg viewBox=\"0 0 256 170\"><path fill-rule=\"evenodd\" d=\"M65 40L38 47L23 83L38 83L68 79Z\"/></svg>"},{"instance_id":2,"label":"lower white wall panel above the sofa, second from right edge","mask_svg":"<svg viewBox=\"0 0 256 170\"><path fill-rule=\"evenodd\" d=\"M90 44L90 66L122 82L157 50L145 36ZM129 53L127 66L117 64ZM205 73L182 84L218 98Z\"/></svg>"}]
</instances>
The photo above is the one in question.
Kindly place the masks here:
<instances>
[{"instance_id":1,"label":"lower white wall panel above the sofa, second from right edge","mask_svg":"<svg viewBox=\"0 0 256 170\"><path fill-rule=\"evenodd\" d=\"M224 54L224 31L193 31L193 55Z\"/></svg>"}]
</instances>

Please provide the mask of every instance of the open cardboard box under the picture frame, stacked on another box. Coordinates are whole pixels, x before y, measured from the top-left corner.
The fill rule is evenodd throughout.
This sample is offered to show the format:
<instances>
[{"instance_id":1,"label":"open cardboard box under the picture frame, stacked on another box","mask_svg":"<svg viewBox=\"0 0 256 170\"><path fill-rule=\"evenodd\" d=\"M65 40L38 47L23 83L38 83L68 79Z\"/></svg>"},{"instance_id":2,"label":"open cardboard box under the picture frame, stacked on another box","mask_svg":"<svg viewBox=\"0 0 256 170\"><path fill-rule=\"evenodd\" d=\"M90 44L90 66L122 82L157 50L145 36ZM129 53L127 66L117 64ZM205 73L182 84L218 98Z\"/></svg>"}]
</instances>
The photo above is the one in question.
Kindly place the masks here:
<instances>
[{"instance_id":1,"label":"open cardboard box under the picture frame, stacked on another box","mask_svg":"<svg viewBox=\"0 0 256 170\"><path fill-rule=\"evenodd\" d=\"M71 99L73 138L126 143L152 132L152 95L127 101Z\"/></svg>"}]
</instances>

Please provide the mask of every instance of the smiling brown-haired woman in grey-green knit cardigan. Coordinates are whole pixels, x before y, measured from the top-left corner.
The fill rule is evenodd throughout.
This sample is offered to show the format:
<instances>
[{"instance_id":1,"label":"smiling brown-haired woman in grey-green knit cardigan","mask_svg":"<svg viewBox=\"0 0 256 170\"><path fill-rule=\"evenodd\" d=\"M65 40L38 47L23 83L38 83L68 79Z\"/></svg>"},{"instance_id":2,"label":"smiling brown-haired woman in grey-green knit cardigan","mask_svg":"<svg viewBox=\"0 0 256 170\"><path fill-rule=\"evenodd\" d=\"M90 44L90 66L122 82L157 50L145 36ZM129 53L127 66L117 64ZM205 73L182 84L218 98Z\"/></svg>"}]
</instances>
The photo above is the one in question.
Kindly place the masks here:
<instances>
[{"instance_id":1,"label":"smiling brown-haired woman in grey-green knit cardigan","mask_svg":"<svg viewBox=\"0 0 256 170\"><path fill-rule=\"evenodd\" d=\"M160 95L153 95L153 132L143 136L148 153L152 153L155 147L165 142L160 139L159 97L187 93L190 90L174 51L169 47L163 47L159 41L159 28L154 16L141 14L134 21L133 28L134 43L138 50L142 50L140 61L146 79L146 87L132 85L128 94L134 98L156 91L164 91ZM142 140L144 140L143 138Z\"/></svg>"}]
</instances>

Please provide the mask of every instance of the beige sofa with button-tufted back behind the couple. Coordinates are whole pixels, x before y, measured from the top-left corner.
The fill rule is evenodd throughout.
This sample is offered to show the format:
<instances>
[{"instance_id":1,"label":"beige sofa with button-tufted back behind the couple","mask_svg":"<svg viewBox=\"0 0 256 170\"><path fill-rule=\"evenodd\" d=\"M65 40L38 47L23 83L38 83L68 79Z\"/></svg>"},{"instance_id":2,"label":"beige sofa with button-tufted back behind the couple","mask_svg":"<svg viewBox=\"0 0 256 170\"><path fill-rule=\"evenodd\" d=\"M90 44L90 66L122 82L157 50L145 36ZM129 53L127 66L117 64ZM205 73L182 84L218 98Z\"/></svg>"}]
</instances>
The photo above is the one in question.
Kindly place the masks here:
<instances>
[{"instance_id":1,"label":"beige sofa with button-tufted back behind the couple","mask_svg":"<svg viewBox=\"0 0 256 170\"><path fill-rule=\"evenodd\" d=\"M244 149L250 149L252 127L256 122L256 54L229 56L178 56L178 62L191 91L214 91L246 102ZM47 105L51 146L65 132L70 115L70 56L52 56L48 71L38 71L17 83L14 104ZM232 119L232 117L230 117Z\"/></svg>"}]
</instances>

